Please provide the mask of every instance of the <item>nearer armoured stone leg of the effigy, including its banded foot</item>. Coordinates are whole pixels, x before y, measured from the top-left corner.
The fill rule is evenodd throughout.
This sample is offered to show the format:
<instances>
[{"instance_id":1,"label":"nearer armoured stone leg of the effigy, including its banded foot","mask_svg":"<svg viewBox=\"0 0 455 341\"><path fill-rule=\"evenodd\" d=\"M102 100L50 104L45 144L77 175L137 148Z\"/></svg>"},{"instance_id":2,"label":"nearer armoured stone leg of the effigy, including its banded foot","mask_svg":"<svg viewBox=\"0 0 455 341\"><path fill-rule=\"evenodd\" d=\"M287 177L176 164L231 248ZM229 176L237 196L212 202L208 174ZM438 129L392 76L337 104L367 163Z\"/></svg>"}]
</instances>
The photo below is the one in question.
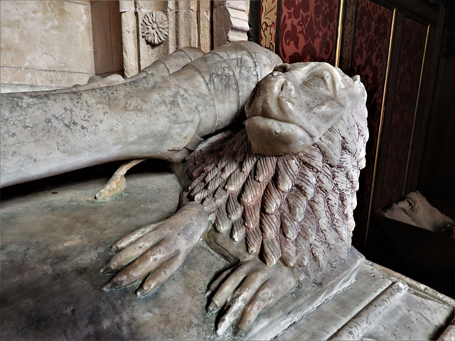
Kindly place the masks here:
<instances>
[{"instance_id":1,"label":"nearer armoured stone leg of the effigy, including its banded foot","mask_svg":"<svg viewBox=\"0 0 455 341\"><path fill-rule=\"evenodd\" d=\"M181 161L228 126L280 63L231 43L169 76L90 90L1 97L1 186L133 158Z\"/></svg>"}]
</instances>

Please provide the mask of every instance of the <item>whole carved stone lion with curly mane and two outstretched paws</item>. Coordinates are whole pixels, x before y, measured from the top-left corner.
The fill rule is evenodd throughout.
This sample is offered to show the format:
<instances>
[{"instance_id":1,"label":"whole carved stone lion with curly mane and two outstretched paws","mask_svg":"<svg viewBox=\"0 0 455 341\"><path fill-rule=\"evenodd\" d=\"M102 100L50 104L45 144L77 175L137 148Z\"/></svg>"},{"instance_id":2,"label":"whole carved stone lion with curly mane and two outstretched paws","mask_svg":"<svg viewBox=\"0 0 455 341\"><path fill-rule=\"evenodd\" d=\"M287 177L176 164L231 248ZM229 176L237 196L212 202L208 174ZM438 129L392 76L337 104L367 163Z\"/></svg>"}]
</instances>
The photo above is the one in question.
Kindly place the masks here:
<instances>
[{"instance_id":1,"label":"whole carved stone lion with curly mane and two outstretched paws","mask_svg":"<svg viewBox=\"0 0 455 341\"><path fill-rule=\"evenodd\" d=\"M326 63L276 67L252 91L246 129L186 161L190 202L114 244L102 271L124 269L104 289L146 278L137 295L154 291L212 226L237 243L220 247L239 261L208 290L209 312L223 308L218 335L248 330L291 288L320 283L350 249L365 100L358 77Z\"/></svg>"}]
</instances>

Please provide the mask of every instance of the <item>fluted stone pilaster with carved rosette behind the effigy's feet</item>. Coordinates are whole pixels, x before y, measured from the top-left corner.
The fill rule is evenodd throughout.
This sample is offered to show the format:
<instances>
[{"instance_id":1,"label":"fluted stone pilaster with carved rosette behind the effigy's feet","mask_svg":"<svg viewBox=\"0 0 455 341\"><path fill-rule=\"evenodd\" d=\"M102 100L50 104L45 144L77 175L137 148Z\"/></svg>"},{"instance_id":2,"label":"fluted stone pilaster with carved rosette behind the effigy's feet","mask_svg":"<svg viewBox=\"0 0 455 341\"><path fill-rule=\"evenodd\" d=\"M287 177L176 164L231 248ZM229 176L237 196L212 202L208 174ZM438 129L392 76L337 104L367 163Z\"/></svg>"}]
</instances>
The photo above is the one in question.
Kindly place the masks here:
<instances>
[{"instance_id":1,"label":"fluted stone pilaster with carved rosette behind the effigy's feet","mask_svg":"<svg viewBox=\"0 0 455 341\"><path fill-rule=\"evenodd\" d=\"M208 52L229 41L247 40L249 9L249 0L120 1L125 76L178 48ZM162 26L162 41L146 41L152 26L156 32Z\"/></svg>"}]
</instances>

